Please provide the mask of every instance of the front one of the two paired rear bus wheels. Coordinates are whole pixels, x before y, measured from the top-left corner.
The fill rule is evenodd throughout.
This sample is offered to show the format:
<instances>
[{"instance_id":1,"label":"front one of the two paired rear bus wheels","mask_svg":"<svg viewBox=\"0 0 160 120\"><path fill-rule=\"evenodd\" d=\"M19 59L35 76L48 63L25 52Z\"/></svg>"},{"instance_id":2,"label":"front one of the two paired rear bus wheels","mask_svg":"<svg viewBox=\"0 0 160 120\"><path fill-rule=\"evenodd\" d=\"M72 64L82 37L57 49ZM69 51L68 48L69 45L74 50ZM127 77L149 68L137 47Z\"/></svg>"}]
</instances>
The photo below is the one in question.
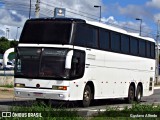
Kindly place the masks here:
<instances>
[{"instance_id":1,"label":"front one of the two paired rear bus wheels","mask_svg":"<svg viewBox=\"0 0 160 120\"><path fill-rule=\"evenodd\" d=\"M127 98L128 103L132 103L134 101L134 98L135 98L135 89L133 85L131 85L128 91L128 98Z\"/></svg>"}]
</instances>

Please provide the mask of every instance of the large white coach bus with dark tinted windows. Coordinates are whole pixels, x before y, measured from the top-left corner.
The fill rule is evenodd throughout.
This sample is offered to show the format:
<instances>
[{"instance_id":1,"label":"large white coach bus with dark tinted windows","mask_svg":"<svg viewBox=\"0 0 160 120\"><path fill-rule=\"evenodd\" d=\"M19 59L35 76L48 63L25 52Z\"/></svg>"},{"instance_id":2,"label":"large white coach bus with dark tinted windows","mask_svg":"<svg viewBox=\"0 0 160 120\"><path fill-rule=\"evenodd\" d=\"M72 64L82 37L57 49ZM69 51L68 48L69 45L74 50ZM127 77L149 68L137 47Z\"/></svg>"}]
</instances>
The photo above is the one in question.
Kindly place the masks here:
<instances>
[{"instance_id":1,"label":"large white coach bus with dark tinted windows","mask_svg":"<svg viewBox=\"0 0 160 120\"><path fill-rule=\"evenodd\" d=\"M99 22L27 20L16 48L15 96L79 101L153 94L155 41Z\"/></svg>"}]
</instances>

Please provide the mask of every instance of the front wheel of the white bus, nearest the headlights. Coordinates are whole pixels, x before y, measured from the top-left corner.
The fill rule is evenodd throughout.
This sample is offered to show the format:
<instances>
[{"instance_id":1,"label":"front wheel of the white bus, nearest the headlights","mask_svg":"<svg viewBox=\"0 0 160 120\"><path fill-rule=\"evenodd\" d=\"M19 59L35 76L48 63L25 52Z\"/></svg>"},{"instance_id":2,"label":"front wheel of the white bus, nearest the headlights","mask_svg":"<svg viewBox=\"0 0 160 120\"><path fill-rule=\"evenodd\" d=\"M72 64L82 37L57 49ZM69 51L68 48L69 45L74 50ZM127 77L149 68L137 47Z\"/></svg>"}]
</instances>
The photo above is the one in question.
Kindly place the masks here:
<instances>
[{"instance_id":1,"label":"front wheel of the white bus, nearest the headlights","mask_svg":"<svg viewBox=\"0 0 160 120\"><path fill-rule=\"evenodd\" d=\"M91 103L91 100L92 100L91 88L89 85L86 85L86 87L84 88L84 93L83 93L82 106L88 107Z\"/></svg>"}]
</instances>

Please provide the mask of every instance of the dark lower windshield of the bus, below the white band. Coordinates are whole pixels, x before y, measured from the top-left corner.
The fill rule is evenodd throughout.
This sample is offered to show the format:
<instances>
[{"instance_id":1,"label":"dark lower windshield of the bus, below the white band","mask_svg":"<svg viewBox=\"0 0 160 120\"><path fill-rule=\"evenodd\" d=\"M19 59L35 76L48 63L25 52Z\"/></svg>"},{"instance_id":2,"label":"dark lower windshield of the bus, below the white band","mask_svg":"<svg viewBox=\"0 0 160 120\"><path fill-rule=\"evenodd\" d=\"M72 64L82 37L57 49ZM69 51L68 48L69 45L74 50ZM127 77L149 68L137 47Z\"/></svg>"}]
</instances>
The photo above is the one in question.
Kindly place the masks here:
<instances>
[{"instance_id":1,"label":"dark lower windshield of the bus, below the white band","mask_svg":"<svg viewBox=\"0 0 160 120\"><path fill-rule=\"evenodd\" d=\"M67 79L65 59L68 49L19 48L16 77Z\"/></svg>"}]
</instances>

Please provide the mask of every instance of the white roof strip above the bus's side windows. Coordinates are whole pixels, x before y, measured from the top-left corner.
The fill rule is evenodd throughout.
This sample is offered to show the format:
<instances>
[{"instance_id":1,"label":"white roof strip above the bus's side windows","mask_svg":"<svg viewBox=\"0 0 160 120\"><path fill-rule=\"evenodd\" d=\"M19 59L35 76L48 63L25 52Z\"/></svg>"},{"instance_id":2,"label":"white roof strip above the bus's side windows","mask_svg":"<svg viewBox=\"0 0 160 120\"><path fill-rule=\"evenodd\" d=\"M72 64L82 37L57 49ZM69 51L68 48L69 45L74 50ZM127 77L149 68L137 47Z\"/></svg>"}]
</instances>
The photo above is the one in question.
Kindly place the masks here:
<instances>
[{"instance_id":1,"label":"white roof strip above the bus's side windows","mask_svg":"<svg viewBox=\"0 0 160 120\"><path fill-rule=\"evenodd\" d=\"M155 42L155 40L153 38L139 36L139 33L130 33L130 32L127 32L124 29L114 27L114 26L111 26L111 25L107 25L107 24L104 24L104 23L101 23L101 22L86 21L86 23L90 24L90 25L93 25L93 26L101 27L101 28L104 28L104 29L112 30L112 31L115 31L115 32L123 33L123 34L129 35L129 36L133 36L133 37L141 38L141 39L148 40L148 41L151 41L151 42Z\"/></svg>"}]
</instances>

